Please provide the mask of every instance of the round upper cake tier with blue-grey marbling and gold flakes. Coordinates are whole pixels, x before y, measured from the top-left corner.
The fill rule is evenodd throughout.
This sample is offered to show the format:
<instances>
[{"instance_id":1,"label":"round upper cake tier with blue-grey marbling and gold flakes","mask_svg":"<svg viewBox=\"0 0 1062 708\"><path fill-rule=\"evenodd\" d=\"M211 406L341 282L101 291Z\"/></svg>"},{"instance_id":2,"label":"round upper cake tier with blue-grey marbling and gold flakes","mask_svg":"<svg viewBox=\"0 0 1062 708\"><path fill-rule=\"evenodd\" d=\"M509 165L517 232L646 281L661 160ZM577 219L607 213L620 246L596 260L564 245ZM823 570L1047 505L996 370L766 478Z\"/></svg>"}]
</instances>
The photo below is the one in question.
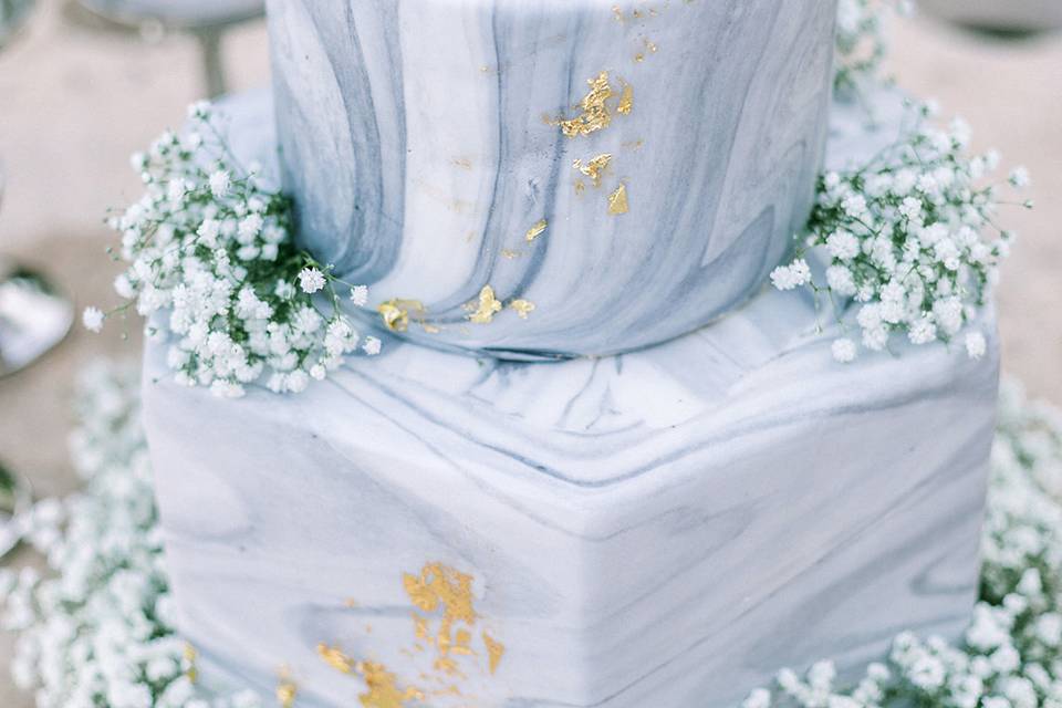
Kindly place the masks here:
<instances>
[{"instance_id":1,"label":"round upper cake tier with blue-grey marbling and gold flakes","mask_svg":"<svg viewBox=\"0 0 1062 708\"><path fill-rule=\"evenodd\" d=\"M834 2L271 0L299 238L362 313L500 357L733 309L810 208Z\"/></svg>"}]
</instances>

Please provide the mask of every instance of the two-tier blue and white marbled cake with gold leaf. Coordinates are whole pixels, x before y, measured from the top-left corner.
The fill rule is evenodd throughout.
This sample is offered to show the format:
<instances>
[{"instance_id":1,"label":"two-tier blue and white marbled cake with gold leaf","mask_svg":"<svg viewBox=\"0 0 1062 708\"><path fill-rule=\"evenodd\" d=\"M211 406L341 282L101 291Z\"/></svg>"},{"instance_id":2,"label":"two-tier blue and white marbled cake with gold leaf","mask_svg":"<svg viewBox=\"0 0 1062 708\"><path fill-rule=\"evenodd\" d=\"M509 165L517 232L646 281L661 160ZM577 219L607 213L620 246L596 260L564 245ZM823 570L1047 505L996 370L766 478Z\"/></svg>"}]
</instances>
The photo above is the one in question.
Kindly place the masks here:
<instances>
[{"instance_id":1,"label":"two-tier blue and white marbled cake with gold leaf","mask_svg":"<svg viewBox=\"0 0 1062 708\"><path fill-rule=\"evenodd\" d=\"M842 366L810 296L762 291L824 150L895 136L831 113L832 2L269 9L274 102L230 102L230 142L395 336L235 402L150 345L206 664L300 707L715 708L957 635L995 341Z\"/></svg>"}]
</instances>

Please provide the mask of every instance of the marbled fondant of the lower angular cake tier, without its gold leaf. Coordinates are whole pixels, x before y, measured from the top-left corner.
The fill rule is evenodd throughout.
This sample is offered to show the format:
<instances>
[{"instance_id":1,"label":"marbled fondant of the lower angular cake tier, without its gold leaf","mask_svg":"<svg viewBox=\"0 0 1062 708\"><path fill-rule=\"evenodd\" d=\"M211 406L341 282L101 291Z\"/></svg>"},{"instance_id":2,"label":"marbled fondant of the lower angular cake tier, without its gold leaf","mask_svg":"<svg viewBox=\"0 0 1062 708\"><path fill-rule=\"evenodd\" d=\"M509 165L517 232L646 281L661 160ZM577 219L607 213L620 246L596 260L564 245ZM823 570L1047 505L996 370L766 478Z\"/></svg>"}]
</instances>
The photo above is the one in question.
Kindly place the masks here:
<instances>
[{"instance_id":1,"label":"marbled fondant of the lower angular cake tier, without its gold leaf","mask_svg":"<svg viewBox=\"0 0 1062 708\"><path fill-rule=\"evenodd\" d=\"M229 111L237 152L267 156L269 101ZM895 136L863 116L835 108L831 163ZM391 342L298 397L238 402L169 383L150 345L180 629L207 676L269 693L284 667L305 708L368 690L319 643L433 685L402 582L433 561L476 579L506 646L433 708L726 707L902 629L958 636L998 373L991 313L976 326L980 362L900 345L842 366L812 302L771 291L633 354L518 364Z\"/></svg>"}]
</instances>

